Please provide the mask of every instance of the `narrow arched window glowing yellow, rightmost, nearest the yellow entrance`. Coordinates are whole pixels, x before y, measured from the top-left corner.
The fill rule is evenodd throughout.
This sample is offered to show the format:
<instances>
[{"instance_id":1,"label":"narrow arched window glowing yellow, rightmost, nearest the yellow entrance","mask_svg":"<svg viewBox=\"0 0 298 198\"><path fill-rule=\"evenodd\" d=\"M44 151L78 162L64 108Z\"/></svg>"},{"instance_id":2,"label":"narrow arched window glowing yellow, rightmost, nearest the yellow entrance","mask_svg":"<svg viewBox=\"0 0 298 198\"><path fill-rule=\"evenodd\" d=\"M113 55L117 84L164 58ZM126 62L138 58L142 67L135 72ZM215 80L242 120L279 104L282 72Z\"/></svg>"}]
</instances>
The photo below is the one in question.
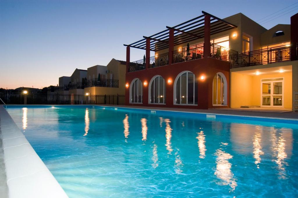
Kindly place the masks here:
<instances>
[{"instance_id":1,"label":"narrow arched window glowing yellow, rightmost, nearest the yellow entrance","mask_svg":"<svg viewBox=\"0 0 298 198\"><path fill-rule=\"evenodd\" d=\"M223 73L213 78L213 106L227 105L227 82Z\"/></svg>"}]
</instances>

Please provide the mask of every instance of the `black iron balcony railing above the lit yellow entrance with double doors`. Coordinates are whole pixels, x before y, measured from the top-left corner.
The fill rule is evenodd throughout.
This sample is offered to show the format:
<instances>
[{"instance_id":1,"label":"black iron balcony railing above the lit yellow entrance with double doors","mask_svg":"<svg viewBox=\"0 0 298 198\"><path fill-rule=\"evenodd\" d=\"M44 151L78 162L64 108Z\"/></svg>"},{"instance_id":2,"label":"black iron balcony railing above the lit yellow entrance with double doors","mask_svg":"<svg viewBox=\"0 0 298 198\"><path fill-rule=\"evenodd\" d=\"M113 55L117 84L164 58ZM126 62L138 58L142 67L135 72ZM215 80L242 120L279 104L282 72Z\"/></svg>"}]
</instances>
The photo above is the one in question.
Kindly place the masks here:
<instances>
[{"instance_id":1,"label":"black iron balcony railing above the lit yellow entrance with double doors","mask_svg":"<svg viewBox=\"0 0 298 198\"><path fill-rule=\"evenodd\" d=\"M296 46L284 45L241 54L233 54L231 56L231 68L297 60L297 52L298 45L296 44Z\"/></svg>"}]
</instances>

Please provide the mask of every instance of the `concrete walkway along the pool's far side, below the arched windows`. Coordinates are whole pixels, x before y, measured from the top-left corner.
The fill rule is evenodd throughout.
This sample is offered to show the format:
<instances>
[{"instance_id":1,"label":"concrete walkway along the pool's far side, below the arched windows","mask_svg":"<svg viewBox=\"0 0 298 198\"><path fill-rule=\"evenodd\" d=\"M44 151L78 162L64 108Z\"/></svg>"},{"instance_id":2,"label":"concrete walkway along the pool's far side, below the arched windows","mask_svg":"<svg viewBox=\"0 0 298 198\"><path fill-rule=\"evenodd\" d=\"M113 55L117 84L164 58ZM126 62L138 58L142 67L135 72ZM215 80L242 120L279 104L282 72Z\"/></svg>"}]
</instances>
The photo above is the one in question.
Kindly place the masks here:
<instances>
[{"instance_id":1,"label":"concrete walkway along the pool's far side, below the arched windows","mask_svg":"<svg viewBox=\"0 0 298 198\"><path fill-rule=\"evenodd\" d=\"M261 111L248 111L248 110L240 111L240 110L233 110L232 108L205 110L205 109L168 108L168 107L142 107L142 106L131 106L131 105L94 105L94 106L169 110L169 111L183 111L183 112L195 112L195 113L215 113L215 114L229 114L229 115L236 115L236 116L258 116L258 117L281 118L281 119L297 119L298 121L298 113L295 113L295 112L281 113L281 112L261 112Z\"/></svg>"}]
</instances>

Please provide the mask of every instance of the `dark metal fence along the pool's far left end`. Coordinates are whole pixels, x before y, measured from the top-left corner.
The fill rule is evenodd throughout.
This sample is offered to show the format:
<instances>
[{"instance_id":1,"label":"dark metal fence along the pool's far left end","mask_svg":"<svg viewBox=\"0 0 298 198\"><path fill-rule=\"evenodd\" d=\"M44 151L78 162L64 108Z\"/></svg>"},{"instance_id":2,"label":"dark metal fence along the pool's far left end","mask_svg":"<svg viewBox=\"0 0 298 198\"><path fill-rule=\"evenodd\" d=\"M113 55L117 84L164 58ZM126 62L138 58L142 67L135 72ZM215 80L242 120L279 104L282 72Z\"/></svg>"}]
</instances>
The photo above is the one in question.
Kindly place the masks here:
<instances>
[{"instance_id":1,"label":"dark metal fence along the pool's far left end","mask_svg":"<svg viewBox=\"0 0 298 198\"><path fill-rule=\"evenodd\" d=\"M108 104L124 105L124 95L75 95L75 94L42 94L42 93L1 93L0 98L6 104L47 104L47 105L80 105Z\"/></svg>"}]
</instances>

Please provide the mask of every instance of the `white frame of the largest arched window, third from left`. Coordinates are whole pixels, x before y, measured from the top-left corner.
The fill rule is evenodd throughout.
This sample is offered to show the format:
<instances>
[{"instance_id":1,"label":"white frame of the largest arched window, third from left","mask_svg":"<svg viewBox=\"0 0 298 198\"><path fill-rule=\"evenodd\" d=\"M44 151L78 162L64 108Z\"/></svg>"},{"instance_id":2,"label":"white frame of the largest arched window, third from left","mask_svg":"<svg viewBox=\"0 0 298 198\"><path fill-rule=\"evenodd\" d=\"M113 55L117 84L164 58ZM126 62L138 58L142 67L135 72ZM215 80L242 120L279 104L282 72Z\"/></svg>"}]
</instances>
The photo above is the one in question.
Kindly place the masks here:
<instances>
[{"instance_id":1,"label":"white frame of the largest arched window, third from left","mask_svg":"<svg viewBox=\"0 0 298 198\"><path fill-rule=\"evenodd\" d=\"M188 73L193 74L193 103L195 103L195 74L191 71L182 71L180 74L177 75L175 81L174 81L174 94L173 94L173 104L174 105L187 105L187 106L198 106L198 104L188 104ZM181 104L181 79L180 79L180 104L177 104L177 99L176 99L176 84L178 79L182 76L182 74L186 73L186 104Z\"/></svg>"}]
</instances>

